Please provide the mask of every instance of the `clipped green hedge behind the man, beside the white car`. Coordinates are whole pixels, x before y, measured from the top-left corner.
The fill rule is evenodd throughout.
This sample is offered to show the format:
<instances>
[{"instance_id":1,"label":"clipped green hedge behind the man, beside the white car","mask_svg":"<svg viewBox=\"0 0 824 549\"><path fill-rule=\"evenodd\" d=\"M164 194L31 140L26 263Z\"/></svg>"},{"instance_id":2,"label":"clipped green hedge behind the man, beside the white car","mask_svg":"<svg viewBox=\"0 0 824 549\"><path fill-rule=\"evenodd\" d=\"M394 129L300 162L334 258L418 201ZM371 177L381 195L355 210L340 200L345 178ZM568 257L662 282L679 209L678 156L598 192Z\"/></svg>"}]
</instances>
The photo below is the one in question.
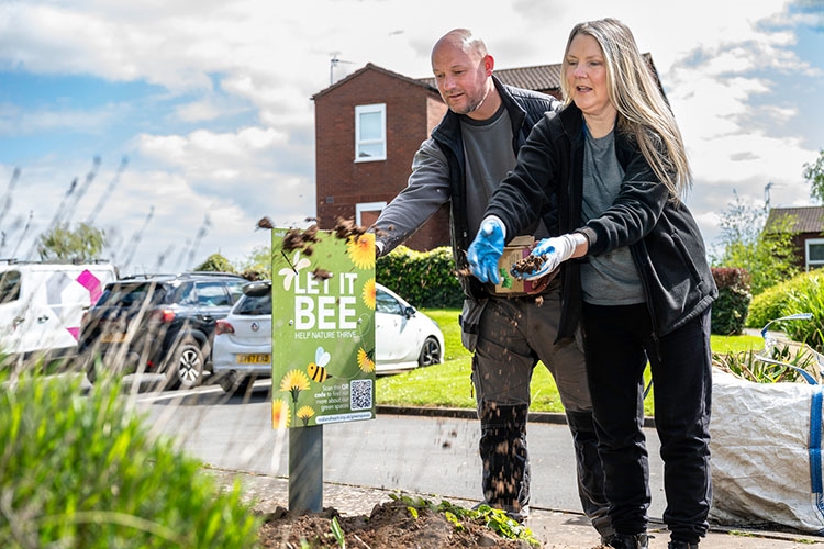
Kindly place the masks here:
<instances>
[{"instance_id":1,"label":"clipped green hedge behind the man, beside the white car","mask_svg":"<svg viewBox=\"0 0 824 549\"><path fill-rule=\"evenodd\" d=\"M398 246L378 258L375 277L416 307L450 309L464 304L452 248L447 246L430 251Z\"/></svg>"}]
</instances>

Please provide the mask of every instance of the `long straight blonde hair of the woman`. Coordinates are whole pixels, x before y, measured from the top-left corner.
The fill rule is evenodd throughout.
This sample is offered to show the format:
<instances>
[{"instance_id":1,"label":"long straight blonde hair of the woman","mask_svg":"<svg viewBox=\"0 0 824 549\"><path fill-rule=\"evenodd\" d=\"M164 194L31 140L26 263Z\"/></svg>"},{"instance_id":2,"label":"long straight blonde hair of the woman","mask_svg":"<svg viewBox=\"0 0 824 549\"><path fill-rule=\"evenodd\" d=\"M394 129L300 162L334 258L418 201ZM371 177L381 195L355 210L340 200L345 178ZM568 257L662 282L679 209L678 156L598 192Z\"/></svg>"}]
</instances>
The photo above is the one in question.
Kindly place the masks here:
<instances>
[{"instance_id":1,"label":"long straight blonde hair of the woman","mask_svg":"<svg viewBox=\"0 0 824 549\"><path fill-rule=\"evenodd\" d=\"M638 52L632 31L624 23L601 19L572 27L564 52L560 79L565 103L571 102L566 58L572 38L579 34L592 36L601 46L608 93L617 111L617 130L634 136L655 175L667 186L672 199L680 200L692 183L681 132L664 92Z\"/></svg>"}]
</instances>

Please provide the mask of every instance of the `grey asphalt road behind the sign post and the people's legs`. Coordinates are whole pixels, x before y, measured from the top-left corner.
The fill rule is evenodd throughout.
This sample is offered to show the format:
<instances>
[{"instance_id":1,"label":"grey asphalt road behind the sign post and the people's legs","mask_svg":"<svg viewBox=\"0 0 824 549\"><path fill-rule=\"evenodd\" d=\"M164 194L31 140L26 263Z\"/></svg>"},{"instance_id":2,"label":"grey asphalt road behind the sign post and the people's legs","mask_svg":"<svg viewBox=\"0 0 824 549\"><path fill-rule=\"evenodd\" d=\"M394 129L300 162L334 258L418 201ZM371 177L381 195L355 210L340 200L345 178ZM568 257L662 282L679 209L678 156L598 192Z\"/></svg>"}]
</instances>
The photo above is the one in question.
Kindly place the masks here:
<instances>
[{"instance_id":1,"label":"grey asphalt road behind the sign post and the people's legs","mask_svg":"<svg viewBox=\"0 0 824 549\"><path fill-rule=\"evenodd\" d=\"M263 383L263 386L261 386ZM271 428L265 382L246 402L219 388L138 393L137 407L159 433L189 455L224 469L288 477L288 429ZM531 423L532 505L580 512L572 440L566 425ZM658 438L645 429L650 453L649 515L664 512ZM323 427L323 480L341 484L480 498L479 426L475 419L383 415Z\"/></svg>"}]
</instances>

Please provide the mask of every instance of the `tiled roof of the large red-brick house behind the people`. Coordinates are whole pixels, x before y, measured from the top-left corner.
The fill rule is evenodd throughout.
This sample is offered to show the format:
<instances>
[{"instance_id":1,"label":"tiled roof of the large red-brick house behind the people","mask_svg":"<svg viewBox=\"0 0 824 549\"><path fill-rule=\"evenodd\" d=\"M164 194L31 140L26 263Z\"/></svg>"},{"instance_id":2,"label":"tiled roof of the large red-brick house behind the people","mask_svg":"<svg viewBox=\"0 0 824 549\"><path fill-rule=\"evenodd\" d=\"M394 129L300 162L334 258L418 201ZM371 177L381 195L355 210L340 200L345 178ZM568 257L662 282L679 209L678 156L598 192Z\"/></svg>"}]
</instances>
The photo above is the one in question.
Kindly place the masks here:
<instances>
[{"instance_id":1,"label":"tiled roof of the large red-brick house behind the people","mask_svg":"<svg viewBox=\"0 0 824 549\"><path fill-rule=\"evenodd\" d=\"M644 56L644 59L649 65L649 68L653 69L653 74L655 75L655 80L656 82L658 82L658 88L661 89L661 91L664 91L664 87L661 86L660 78L658 78L658 69L655 68L655 63L653 63L652 54L646 53L646 54L643 54L643 56ZM515 67L515 68L510 68L510 69L495 69L494 74L498 78L500 78L500 80L503 83L515 86L517 88L525 88L527 90L549 92L549 91L560 90L560 66L561 66L560 63L556 63L554 65L536 65L534 67ZM314 100L318 97L329 93L331 90L334 90L335 88L343 85L344 82L347 82L352 80L353 78L357 78L359 75L364 74L366 70L378 70L380 72L392 76L394 78L407 80L410 83L414 83L417 86L425 86L431 91L434 91L437 93L437 85L435 83L435 77L410 78L408 76L403 76L401 74L387 70L372 63L367 63L363 68L346 76L345 78L342 78L341 80L333 83L329 88L325 88L319 91L318 93L312 96L312 99Z\"/></svg>"}]
</instances>

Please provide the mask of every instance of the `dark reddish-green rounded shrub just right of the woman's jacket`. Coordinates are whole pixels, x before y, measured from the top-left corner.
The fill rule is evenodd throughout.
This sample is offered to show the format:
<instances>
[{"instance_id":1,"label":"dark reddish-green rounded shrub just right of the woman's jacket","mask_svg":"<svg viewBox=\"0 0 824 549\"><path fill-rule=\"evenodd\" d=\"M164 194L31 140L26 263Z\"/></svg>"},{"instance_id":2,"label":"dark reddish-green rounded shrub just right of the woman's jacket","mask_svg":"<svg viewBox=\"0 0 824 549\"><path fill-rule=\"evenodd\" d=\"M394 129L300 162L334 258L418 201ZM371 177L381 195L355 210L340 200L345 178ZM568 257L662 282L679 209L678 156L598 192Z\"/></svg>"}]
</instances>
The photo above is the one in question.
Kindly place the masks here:
<instances>
[{"instance_id":1,"label":"dark reddish-green rounded shrub just right of the woman's jacket","mask_svg":"<svg viewBox=\"0 0 824 549\"><path fill-rule=\"evenodd\" d=\"M745 269L714 267L712 276L719 287L719 299L712 305L712 333L741 335L747 320L749 274Z\"/></svg>"}]
</instances>

